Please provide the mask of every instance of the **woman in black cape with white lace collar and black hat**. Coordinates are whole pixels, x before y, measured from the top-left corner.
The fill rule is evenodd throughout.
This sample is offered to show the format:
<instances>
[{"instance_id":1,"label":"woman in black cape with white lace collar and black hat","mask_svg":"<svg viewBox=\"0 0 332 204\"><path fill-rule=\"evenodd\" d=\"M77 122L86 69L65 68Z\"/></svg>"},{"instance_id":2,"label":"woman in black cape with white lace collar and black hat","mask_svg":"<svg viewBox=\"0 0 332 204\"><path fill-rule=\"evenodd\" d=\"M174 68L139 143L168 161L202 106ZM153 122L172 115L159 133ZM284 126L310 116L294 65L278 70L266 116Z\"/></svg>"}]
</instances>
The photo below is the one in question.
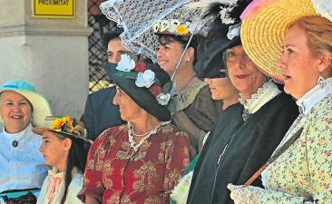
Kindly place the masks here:
<instances>
[{"instance_id":1,"label":"woman in black cape with white lace collar and black hat","mask_svg":"<svg viewBox=\"0 0 332 204\"><path fill-rule=\"evenodd\" d=\"M221 112L200 152L190 184L187 201L190 204L232 203L229 182L249 180L269 160L298 116L291 97L280 92L243 50L239 14L248 4L243 0L235 5L230 2L210 5L210 11L230 11L229 15L221 15L221 21L216 18L210 32L217 30L219 38L224 39L216 56L223 56L220 63L226 66L229 80L240 97L239 103ZM260 180L255 180L254 185L261 186Z\"/></svg>"}]
</instances>

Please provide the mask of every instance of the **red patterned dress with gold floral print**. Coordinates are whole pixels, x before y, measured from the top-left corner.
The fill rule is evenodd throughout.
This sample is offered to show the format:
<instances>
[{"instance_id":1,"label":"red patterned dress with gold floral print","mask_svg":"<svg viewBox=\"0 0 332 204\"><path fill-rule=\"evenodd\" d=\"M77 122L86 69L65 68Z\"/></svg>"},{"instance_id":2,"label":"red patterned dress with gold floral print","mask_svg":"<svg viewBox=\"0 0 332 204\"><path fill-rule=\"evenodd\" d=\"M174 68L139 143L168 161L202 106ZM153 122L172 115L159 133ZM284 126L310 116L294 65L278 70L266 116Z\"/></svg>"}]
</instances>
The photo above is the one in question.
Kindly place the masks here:
<instances>
[{"instance_id":1,"label":"red patterned dress with gold floral print","mask_svg":"<svg viewBox=\"0 0 332 204\"><path fill-rule=\"evenodd\" d=\"M112 127L93 142L80 198L86 195L112 203L170 202L171 189L190 163L188 135L175 126L161 126L133 151L126 125Z\"/></svg>"}]
</instances>

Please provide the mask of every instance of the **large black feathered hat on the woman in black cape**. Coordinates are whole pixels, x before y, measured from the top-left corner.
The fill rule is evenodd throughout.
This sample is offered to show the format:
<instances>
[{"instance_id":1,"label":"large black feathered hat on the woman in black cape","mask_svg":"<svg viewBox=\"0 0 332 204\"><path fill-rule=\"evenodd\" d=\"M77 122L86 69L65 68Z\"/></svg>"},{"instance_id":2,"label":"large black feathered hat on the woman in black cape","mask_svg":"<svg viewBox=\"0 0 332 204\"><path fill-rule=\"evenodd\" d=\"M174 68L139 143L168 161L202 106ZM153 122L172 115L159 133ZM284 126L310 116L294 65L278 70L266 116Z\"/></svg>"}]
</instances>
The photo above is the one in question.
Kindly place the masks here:
<instances>
[{"instance_id":1,"label":"large black feathered hat on the woman in black cape","mask_svg":"<svg viewBox=\"0 0 332 204\"><path fill-rule=\"evenodd\" d=\"M217 2L208 5L209 8L204 16L214 15L216 18L209 33L205 37L198 37L197 63L195 63L194 69L200 78L226 76L226 67L223 63L222 53L231 47L241 44L239 35L234 34L228 37L229 30L232 28L239 29L237 26L240 25L239 15L250 2L251 0L239 0L237 5L233 5L233 9L226 15L228 19L232 20L231 23L226 23L226 21L220 19L220 11L225 9L227 5Z\"/></svg>"}]
</instances>

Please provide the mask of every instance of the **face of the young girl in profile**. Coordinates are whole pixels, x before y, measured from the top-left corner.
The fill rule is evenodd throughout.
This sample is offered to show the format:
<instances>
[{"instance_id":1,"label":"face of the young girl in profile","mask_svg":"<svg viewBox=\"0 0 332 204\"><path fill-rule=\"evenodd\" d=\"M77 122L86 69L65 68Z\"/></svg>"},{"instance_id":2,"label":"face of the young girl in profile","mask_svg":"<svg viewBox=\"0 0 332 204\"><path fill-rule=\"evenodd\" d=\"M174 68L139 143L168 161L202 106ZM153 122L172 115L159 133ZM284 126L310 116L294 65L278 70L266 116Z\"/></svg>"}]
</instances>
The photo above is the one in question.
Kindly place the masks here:
<instances>
[{"instance_id":1,"label":"face of the young girl in profile","mask_svg":"<svg viewBox=\"0 0 332 204\"><path fill-rule=\"evenodd\" d=\"M45 163L58 170L65 170L68 152L72 144L71 139L60 139L53 131L43 131L42 137L43 142L39 151L43 154Z\"/></svg>"}]
</instances>

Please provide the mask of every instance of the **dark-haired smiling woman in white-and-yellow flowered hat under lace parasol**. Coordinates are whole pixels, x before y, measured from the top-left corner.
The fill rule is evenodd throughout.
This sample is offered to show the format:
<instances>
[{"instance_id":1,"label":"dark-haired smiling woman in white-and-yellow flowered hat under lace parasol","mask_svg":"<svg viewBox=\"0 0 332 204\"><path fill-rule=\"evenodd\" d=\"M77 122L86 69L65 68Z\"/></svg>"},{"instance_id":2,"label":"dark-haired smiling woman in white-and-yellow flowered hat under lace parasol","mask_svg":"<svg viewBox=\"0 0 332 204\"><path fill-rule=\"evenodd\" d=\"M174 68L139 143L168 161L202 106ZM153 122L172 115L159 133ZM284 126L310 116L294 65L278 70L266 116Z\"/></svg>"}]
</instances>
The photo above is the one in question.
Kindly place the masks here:
<instances>
[{"instance_id":1,"label":"dark-haired smiling woman in white-and-yellow flowered hat under lace parasol","mask_svg":"<svg viewBox=\"0 0 332 204\"><path fill-rule=\"evenodd\" d=\"M172 76L184 48L189 42L190 23L178 19L163 20L153 25L154 34L159 36L157 61L161 69ZM190 32L191 31L191 32ZM202 147L206 132L210 131L218 119L219 107L213 102L210 90L194 71L197 61L196 36L193 36L188 49L174 75L174 96L168 108L172 120L181 130L189 133L197 151Z\"/></svg>"}]
</instances>

